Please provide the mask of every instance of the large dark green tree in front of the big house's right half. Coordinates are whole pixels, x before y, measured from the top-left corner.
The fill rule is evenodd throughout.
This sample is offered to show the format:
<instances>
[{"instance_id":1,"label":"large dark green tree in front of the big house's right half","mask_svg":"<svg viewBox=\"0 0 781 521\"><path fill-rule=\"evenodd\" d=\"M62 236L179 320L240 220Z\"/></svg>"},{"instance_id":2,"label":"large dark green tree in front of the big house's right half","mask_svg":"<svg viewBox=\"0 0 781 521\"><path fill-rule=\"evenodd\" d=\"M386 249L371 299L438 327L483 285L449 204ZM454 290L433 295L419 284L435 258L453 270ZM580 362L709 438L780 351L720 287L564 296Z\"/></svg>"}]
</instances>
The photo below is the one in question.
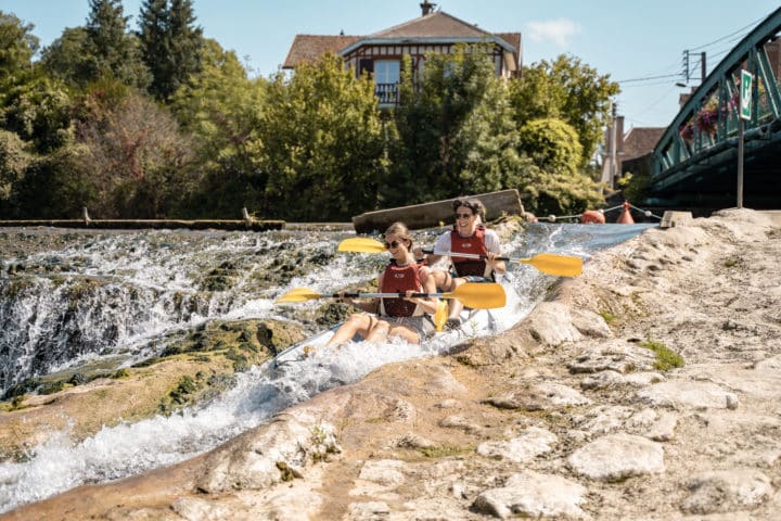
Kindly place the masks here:
<instances>
[{"instance_id":1,"label":"large dark green tree in front of the big house's right half","mask_svg":"<svg viewBox=\"0 0 781 521\"><path fill-rule=\"evenodd\" d=\"M446 199L511 183L520 167L504 86L484 46L426 55L422 78L402 67L398 142L387 203Z\"/></svg>"}]
</instances>

